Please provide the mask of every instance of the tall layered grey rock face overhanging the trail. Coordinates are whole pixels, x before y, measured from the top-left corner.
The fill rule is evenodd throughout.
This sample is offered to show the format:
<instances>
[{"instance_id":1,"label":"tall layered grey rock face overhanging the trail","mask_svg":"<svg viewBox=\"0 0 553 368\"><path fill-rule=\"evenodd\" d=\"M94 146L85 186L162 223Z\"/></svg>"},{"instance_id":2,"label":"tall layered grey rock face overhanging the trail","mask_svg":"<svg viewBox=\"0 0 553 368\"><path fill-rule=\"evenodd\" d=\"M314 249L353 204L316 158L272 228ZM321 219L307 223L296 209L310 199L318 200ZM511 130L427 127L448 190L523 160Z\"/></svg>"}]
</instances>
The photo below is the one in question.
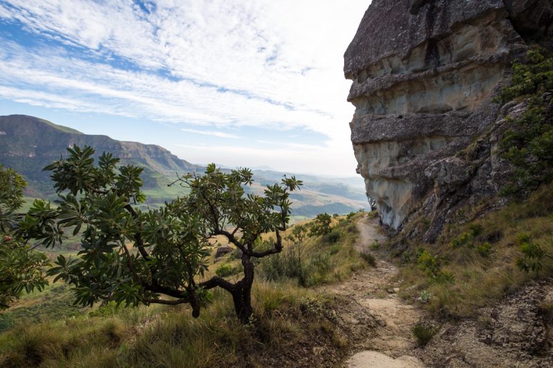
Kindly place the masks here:
<instances>
[{"instance_id":1,"label":"tall layered grey rock face overhanging the trail","mask_svg":"<svg viewBox=\"0 0 553 368\"><path fill-rule=\"evenodd\" d=\"M384 225L418 213L433 241L455 206L498 191L490 131L509 111L492 100L552 19L552 0L373 0L344 72L357 170Z\"/></svg>"}]
</instances>

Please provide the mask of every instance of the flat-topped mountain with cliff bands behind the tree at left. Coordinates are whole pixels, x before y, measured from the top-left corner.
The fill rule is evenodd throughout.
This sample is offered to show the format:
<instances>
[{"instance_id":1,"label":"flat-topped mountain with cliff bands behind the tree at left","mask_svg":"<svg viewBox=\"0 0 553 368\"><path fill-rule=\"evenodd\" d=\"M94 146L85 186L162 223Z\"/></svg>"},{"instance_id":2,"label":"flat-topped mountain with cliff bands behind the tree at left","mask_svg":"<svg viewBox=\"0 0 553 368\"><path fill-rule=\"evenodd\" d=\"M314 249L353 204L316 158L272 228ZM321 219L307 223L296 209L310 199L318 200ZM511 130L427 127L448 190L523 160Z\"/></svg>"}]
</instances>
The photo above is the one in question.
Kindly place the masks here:
<instances>
[{"instance_id":1,"label":"flat-topped mountain with cliff bands behind the tree at left","mask_svg":"<svg viewBox=\"0 0 553 368\"><path fill-rule=\"evenodd\" d=\"M29 183L28 194L53 194L50 173L44 166L66 155L71 146L91 146L96 155L103 151L119 157L123 164L144 167L144 187L167 184L167 176L196 171L198 166L176 157L153 144L121 142L106 135L86 135L44 119L26 115L0 116L0 164L14 168Z\"/></svg>"}]
</instances>

